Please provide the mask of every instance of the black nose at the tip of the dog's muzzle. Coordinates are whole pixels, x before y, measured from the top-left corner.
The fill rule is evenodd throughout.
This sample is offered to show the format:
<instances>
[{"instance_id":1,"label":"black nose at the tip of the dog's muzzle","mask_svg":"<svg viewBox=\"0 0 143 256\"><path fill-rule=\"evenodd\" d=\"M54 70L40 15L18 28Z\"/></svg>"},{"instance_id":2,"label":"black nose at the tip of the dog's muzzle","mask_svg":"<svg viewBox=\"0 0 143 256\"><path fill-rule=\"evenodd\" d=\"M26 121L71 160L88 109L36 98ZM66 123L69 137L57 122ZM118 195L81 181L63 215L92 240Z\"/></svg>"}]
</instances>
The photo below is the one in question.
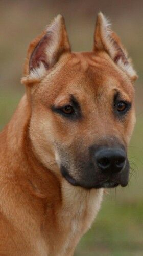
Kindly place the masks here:
<instances>
[{"instance_id":1,"label":"black nose at the tip of the dog's muzzle","mask_svg":"<svg viewBox=\"0 0 143 256\"><path fill-rule=\"evenodd\" d=\"M125 166L126 152L122 148L100 148L96 151L95 160L104 172L120 172Z\"/></svg>"}]
</instances>

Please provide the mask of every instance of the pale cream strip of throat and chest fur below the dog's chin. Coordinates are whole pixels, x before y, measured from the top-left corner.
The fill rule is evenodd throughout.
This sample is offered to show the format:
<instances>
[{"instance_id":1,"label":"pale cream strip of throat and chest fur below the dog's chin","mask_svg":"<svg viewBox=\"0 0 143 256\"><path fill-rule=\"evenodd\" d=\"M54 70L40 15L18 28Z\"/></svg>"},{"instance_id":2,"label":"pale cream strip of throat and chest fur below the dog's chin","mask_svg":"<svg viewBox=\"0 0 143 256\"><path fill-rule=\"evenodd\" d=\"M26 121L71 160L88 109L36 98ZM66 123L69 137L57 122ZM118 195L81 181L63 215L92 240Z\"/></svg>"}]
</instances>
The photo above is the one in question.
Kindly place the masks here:
<instances>
[{"instance_id":1,"label":"pale cream strip of throat and chest fur below the dog's chin","mask_svg":"<svg viewBox=\"0 0 143 256\"><path fill-rule=\"evenodd\" d=\"M63 204L59 212L61 254L67 255L76 247L82 235L90 228L102 201L103 189L85 190L71 185L63 186Z\"/></svg>"}]
</instances>

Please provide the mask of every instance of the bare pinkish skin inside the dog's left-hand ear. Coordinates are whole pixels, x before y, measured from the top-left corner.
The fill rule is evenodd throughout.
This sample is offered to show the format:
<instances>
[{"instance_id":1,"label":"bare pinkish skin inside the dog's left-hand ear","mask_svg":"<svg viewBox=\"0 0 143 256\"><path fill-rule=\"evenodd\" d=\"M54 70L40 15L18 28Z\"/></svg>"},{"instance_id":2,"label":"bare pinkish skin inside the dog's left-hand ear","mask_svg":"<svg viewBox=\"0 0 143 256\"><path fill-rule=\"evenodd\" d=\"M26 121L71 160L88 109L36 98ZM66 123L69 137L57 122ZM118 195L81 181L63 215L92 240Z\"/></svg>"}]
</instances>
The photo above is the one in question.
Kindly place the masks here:
<instances>
[{"instance_id":1,"label":"bare pinkish skin inside the dog's left-hand ear","mask_svg":"<svg viewBox=\"0 0 143 256\"><path fill-rule=\"evenodd\" d=\"M49 68L49 65L47 63L46 48L48 45L48 41L50 40L50 37L50 33L46 34L35 47L29 61L29 71L39 67L40 62L44 64L46 69Z\"/></svg>"}]
</instances>

